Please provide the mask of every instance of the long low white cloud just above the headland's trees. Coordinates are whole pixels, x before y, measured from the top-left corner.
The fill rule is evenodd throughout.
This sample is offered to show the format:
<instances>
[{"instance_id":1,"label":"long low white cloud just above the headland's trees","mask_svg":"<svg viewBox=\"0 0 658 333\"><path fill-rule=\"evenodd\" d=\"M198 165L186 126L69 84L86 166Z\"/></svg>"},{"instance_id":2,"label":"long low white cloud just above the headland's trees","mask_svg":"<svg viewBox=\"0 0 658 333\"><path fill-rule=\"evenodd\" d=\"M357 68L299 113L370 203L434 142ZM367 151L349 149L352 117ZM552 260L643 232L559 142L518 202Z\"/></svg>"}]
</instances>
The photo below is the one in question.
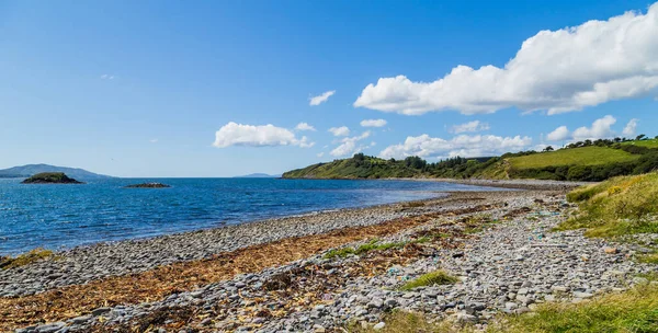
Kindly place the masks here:
<instances>
[{"instance_id":1,"label":"long low white cloud just above the headland's trees","mask_svg":"<svg viewBox=\"0 0 658 333\"><path fill-rule=\"evenodd\" d=\"M450 140L432 138L427 134L407 137L405 142L389 146L379 152L384 159L419 156L430 157L486 157L508 151L519 151L532 143L530 137L499 137L494 135L460 135Z\"/></svg>"}]
</instances>

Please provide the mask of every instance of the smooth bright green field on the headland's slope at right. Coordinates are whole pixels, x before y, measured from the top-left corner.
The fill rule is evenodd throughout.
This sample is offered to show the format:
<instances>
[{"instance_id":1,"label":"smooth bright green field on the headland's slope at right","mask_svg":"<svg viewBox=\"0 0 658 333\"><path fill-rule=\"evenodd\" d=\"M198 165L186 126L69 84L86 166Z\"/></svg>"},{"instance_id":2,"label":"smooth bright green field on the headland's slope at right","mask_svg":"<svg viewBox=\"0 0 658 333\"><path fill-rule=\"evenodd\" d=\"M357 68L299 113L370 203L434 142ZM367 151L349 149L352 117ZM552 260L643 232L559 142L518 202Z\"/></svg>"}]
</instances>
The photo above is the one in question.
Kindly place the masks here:
<instances>
[{"instance_id":1,"label":"smooth bright green field on the headland's slope at right","mask_svg":"<svg viewBox=\"0 0 658 333\"><path fill-rule=\"evenodd\" d=\"M623 150L606 147L583 147L542 152L531 156L510 158L509 163L514 169L537 169L561 165L600 165L615 162L628 162L639 157Z\"/></svg>"}]
</instances>

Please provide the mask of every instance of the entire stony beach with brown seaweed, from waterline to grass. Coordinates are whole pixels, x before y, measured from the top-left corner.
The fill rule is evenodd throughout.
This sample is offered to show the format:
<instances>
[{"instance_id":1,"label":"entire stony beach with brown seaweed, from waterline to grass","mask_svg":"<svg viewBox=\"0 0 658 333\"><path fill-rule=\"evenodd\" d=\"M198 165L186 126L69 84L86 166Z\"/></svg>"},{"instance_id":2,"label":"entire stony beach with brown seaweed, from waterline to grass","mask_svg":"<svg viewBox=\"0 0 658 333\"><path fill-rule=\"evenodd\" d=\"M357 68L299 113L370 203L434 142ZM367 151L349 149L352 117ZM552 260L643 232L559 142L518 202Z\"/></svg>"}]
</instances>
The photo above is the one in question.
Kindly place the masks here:
<instances>
[{"instance_id":1,"label":"entire stony beach with brown seaweed, from waterline to grass","mask_svg":"<svg viewBox=\"0 0 658 333\"><path fill-rule=\"evenodd\" d=\"M400 309L481 329L498 312L579 302L657 269L629 260L642 249L551 231L577 209L560 186L454 193L60 252L0 272L0 312L9 313L0 328L342 332L349 323L381 328L385 312ZM341 252L363 244L372 251ZM345 255L329 255L339 252ZM191 284L181 265L205 275ZM436 269L460 282L400 289Z\"/></svg>"}]
</instances>

